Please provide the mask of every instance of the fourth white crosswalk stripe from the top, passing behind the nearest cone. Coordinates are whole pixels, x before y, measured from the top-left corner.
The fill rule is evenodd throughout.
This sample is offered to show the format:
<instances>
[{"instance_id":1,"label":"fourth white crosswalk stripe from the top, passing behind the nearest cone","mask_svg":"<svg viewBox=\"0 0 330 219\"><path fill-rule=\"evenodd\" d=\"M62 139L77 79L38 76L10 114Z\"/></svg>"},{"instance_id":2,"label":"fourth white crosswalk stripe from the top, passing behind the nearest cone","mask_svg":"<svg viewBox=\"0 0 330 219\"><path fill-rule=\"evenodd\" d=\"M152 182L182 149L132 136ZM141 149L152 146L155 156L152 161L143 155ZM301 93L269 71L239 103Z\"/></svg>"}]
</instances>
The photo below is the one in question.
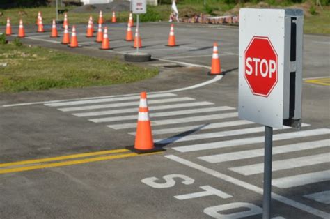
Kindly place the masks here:
<instances>
[{"instance_id":1,"label":"fourth white crosswalk stripe from the top, passing behind the nearest cone","mask_svg":"<svg viewBox=\"0 0 330 219\"><path fill-rule=\"evenodd\" d=\"M233 107L209 107L209 108L177 110L177 111L168 111L168 112L155 112L155 113L150 112L150 118L198 114L198 113L205 113L205 112L221 112L221 111L225 111L225 110L235 110L235 108L233 108ZM136 119L136 115L113 116L113 117L106 117L106 118L89 119L89 121L93 121L94 123L105 123L105 122L111 122L111 121L125 121L125 120L132 120L132 119Z\"/></svg>"}]
</instances>

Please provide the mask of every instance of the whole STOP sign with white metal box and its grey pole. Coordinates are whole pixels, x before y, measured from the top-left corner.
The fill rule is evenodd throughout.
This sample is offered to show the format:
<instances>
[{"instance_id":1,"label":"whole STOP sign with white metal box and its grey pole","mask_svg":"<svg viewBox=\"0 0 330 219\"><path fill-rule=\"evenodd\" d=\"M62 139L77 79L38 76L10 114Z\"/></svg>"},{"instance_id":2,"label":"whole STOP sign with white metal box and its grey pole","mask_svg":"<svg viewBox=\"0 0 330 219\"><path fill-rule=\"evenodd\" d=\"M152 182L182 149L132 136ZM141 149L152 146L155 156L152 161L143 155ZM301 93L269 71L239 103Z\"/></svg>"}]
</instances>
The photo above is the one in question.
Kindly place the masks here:
<instances>
[{"instance_id":1,"label":"whole STOP sign with white metal box and its grey pole","mask_svg":"<svg viewBox=\"0 0 330 219\"><path fill-rule=\"evenodd\" d=\"M273 128L301 126L303 21L300 9L239 10L238 116L265 126L263 219L272 216Z\"/></svg>"}]
</instances>

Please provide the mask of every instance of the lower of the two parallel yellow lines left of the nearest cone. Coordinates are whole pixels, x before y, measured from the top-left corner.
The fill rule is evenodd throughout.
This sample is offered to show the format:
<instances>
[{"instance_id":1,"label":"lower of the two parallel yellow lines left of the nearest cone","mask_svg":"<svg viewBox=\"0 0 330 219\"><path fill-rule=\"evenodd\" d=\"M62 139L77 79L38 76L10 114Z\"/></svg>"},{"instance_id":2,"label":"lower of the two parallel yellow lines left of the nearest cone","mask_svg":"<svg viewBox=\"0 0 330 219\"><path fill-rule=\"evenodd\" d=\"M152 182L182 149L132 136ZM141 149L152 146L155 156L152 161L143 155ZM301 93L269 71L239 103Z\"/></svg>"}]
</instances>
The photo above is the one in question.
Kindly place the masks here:
<instances>
[{"instance_id":1,"label":"lower of the two parallel yellow lines left of the nearest cone","mask_svg":"<svg viewBox=\"0 0 330 219\"><path fill-rule=\"evenodd\" d=\"M51 168L51 167L63 167L63 166L69 166L69 165L78 165L82 163L92 163L102 160L115 160L120 158L132 158L136 156L148 156L153 155L157 153L162 152L155 152L155 153L144 153L144 154L137 154L137 153L123 153L119 155L113 155L113 156L103 156L103 157L96 157L96 158L87 158L82 160L70 160L70 161L64 161L59 163L47 163L43 165L34 165L34 166L28 166L28 167L18 167L18 168L10 168L10 169L0 169L0 174L8 174L13 172L24 172L29 171L33 169L45 169L45 168Z\"/></svg>"}]
</instances>

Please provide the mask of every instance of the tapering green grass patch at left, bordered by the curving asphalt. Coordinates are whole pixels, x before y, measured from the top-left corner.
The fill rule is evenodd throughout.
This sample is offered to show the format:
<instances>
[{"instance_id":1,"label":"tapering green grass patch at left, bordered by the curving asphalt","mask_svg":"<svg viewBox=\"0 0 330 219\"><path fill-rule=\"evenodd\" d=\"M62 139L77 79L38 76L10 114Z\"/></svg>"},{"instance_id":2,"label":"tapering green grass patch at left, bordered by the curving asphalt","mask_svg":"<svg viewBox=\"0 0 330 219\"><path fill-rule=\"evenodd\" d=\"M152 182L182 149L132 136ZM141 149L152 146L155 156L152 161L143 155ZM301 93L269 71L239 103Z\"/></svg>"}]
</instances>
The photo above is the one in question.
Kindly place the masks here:
<instances>
[{"instance_id":1,"label":"tapering green grass patch at left, bordered by the curving asphalt","mask_svg":"<svg viewBox=\"0 0 330 219\"><path fill-rule=\"evenodd\" d=\"M0 92L105 86L136 82L157 75L141 68L42 47L0 46Z\"/></svg>"}]
</instances>

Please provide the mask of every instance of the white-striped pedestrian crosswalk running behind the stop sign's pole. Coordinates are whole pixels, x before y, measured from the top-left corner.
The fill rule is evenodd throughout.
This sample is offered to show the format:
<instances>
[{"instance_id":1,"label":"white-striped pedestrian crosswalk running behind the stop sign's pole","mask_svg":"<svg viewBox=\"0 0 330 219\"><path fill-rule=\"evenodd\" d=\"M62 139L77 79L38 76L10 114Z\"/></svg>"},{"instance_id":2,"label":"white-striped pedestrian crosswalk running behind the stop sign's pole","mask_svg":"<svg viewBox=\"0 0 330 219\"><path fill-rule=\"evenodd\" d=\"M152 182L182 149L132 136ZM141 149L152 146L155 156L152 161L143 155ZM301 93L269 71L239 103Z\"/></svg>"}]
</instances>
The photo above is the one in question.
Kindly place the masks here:
<instances>
[{"instance_id":1,"label":"white-striped pedestrian crosswalk running behind the stop sign's pole","mask_svg":"<svg viewBox=\"0 0 330 219\"><path fill-rule=\"evenodd\" d=\"M47 103L61 112L72 114L100 126L135 135L139 96ZM263 173L260 162L264 150L264 127L239 119L237 110L196 100L175 93L148 95L152 133L157 146L168 146L177 153L191 154L201 163L218 165L230 162L228 171L241 176ZM303 124L301 130L289 127L274 129L272 184L278 189L311 186L330 181L330 129ZM171 144L171 145L168 145ZM325 152L324 152L325 151ZM300 153L303 153L300 155ZM242 165L242 161L245 165ZM216 166L217 167L217 166ZM308 169L307 167L313 167ZM320 167L320 168L318 168ZM288 170L294 174L288 174ZM327 190L301 195L315 202L329 202ZM320 201L321 200L321 201ZM329 204L329 203L328 203Z\"/></svg>"}]
</instances>

